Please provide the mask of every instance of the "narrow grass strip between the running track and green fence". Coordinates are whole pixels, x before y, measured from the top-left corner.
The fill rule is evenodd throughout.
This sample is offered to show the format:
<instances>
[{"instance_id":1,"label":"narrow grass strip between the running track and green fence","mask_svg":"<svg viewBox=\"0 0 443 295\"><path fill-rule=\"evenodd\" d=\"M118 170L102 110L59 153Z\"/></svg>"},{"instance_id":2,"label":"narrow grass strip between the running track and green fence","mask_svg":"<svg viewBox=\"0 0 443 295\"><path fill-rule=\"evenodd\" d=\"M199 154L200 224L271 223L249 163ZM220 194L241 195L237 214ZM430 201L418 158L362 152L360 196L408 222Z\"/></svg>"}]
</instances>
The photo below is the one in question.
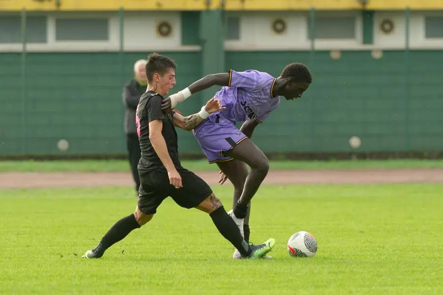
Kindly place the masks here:
<instances>
[{"instance_id":1,"label":"narrow grass strip between the running track and green fence","mask_svg":"<svg viewBox=\"0 0 443 295\"><path fill-rule=\"evenodd\" d=\"M216 164L205 160L182 161L192 171L215 171ZM443 168L443 160L359 160L359 161L271 161L273 170ZM127 161L0 161L0 172L127 172Z\"/></svg>"}]
</instances>

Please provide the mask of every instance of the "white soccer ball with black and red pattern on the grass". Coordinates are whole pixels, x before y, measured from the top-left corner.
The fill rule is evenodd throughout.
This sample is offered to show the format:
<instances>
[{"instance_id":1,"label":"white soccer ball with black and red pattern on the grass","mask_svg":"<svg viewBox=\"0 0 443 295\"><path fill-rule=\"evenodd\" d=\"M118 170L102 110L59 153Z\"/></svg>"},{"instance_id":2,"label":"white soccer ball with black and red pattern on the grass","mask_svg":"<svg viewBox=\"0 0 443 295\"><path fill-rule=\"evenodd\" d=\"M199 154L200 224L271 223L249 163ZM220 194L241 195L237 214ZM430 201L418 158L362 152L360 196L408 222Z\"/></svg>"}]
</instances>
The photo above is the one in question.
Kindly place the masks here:
<instances>
[{"instance_id":1,"label":"white soccer ball with black and red pattern on the grass","mask_svg":"<svg viewBox=\"0 0 443 295\"><path fill-rule=\"evenodd\" d=\"M287 241L287 253L292 257L313 257L317 252L317 240L307 231L298 231Z\"/></svg>"}]
</instances>

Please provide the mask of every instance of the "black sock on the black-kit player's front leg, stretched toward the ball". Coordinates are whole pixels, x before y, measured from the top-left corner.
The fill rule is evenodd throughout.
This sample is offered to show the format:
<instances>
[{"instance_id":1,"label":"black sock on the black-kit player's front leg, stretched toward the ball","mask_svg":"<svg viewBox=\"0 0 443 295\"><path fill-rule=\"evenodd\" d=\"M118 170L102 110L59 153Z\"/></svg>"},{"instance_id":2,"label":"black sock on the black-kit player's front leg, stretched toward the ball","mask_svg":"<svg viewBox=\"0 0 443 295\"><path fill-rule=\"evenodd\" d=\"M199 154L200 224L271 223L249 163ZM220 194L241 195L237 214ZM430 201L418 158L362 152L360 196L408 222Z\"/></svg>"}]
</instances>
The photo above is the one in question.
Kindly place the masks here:
<instances>
[{"instance_id":1,"label":"black sock on the black-kit player's front leg, stretched toward the ball","mask_svg":"<svg viewBox=\"0 0 443 295\"><path fill-rule=\"evenodd\" d=\"M221 235L231 242L243 256L249 256L251 254L251 247L243 239L240 229L238 229L234 220L224 211L223 206L214 210L209 216L211 216L212 221Z\"/></svg>"}]
</instances>

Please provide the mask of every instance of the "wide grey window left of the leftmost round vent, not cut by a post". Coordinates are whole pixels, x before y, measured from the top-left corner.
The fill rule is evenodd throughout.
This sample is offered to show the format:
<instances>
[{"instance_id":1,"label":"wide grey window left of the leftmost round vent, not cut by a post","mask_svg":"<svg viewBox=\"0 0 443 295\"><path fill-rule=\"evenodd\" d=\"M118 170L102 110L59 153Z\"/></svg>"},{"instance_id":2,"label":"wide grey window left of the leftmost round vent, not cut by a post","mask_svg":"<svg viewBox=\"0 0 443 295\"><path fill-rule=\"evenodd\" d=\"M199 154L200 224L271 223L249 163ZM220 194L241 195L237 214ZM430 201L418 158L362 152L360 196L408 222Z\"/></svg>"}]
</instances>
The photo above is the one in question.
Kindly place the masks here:
<instances>
[{"instance_id":1,"label":"wide grey window left of the leftmost round vent, not cut by a post","mask_svg":"<svg viewBox=\"0 0 443 295\"><path fill-rule=\"evenodd\" d=\"M107 18L58 18L57 41L107 41L109 26Z\"/></svg>"}]
</instances>

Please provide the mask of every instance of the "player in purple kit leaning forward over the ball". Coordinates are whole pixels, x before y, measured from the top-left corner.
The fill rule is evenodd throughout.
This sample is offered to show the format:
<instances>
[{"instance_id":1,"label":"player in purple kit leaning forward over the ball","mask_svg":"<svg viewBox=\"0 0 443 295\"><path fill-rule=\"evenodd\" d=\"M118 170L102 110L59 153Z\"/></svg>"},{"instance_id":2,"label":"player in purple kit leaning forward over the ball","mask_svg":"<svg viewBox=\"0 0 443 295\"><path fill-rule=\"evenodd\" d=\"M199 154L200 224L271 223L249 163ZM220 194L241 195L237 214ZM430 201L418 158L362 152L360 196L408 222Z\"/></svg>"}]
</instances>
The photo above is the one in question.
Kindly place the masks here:
<instances>
[{"instance_id":1,"label":"player in purple kit leaning forward over the ball","mask_svg":"<svg viewBox=\"0 0 443 295\"><path fill-rule=\"evenodd\" d=\"M231 69L207 75L163 101L162 109L168 112L192 94L214 85L223 86L215 98L221 100L225 109L211 114L193 134L209 163L217 163L221 169L220 183L227 177L234 185L233 210L228 214L248 242L250 201L269 170L268 159L250 138L255 127L279 105L281 96L287 100L300 98L311 83L308 67L300 63L285 66L277 78L253 69ZM238 130L236 122L245 123ZM251 167L250 172L246 164ZM234 258L240 258L237 250Z\"/></svg>"}]
</instances>

